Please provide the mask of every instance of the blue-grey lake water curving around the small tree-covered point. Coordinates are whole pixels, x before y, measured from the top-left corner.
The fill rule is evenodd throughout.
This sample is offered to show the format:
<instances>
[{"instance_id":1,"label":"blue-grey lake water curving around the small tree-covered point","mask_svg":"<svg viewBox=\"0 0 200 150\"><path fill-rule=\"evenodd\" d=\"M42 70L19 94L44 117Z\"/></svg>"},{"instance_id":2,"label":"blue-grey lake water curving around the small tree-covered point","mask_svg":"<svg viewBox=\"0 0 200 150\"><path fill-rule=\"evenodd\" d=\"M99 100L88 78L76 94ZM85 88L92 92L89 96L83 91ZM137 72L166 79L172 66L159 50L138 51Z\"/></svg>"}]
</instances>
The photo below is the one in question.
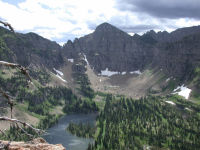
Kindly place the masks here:
<instances>
[{"instance_id":1,"label":"blue-grey lake water curving around the small tree-covered point","mask_svg":"<svg viewBox=\"0 0 200 150\"><path fill-rule=\"evenodd\" d=\"M66 127L70 122L83 122L83 123L95 123L97 114L74 114L62 117L58 124L47 130L47 134L43 138L51 144L62 144L66 150L86 150L89 143L93 142L93 139L79 138L68 131Z\"/></svg>"}]
</instances>

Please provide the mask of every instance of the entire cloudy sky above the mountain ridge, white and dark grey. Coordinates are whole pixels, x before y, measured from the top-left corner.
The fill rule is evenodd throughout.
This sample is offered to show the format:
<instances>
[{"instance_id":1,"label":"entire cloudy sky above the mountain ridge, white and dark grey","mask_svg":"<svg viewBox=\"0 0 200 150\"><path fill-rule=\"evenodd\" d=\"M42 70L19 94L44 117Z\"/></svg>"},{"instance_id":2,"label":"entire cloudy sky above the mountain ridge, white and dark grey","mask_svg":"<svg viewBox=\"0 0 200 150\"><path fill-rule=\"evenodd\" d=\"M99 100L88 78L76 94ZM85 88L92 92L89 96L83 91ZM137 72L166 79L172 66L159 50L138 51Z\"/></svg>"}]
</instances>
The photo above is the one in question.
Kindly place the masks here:
<instances>
[{"instance_id":1,"label":"entire cloudy sky above the mountain ridge, white and dark grey","mask_svg":"<svg viewBox=\"0 0 200 150\"><path fill-rule=\"evenodd\" d=\"M200 25L200 0L0 0L0 20L62 44L103 22L130 34Z\"/></svg>"}]
</instances>

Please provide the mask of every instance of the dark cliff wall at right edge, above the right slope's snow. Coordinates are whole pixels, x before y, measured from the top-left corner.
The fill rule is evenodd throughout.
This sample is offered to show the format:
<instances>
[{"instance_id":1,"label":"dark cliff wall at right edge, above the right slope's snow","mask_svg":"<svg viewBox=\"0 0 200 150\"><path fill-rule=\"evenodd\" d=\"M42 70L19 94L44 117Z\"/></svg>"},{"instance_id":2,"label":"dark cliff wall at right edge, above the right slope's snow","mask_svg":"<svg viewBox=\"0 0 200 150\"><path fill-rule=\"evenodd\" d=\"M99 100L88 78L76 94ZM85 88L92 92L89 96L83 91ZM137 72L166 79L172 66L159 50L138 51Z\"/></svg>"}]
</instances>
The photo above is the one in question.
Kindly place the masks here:
<instances>
[{"instance_id":1,"label":"dark cliff wall at right edge, above the right slope's snow","mask_svg":"<svg viewBox=\"0 0 200 150\"><path fill-rule=\"evenodd\" d=\"M154 64L167 74L184 80L190 78L200 65L200 33L189 35L176 42L157 46Z\"/></svg>"}]
</instances>

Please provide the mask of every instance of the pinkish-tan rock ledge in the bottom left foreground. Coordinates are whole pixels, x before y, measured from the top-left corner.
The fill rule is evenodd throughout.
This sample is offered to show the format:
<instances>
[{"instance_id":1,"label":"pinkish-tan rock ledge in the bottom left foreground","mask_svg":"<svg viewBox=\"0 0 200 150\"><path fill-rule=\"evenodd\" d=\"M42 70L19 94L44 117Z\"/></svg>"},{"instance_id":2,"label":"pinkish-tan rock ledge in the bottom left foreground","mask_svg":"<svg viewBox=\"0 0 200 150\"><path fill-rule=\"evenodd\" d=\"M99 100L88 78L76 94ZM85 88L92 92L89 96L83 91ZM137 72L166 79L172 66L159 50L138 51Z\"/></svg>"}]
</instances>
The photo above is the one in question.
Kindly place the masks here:
<instances>
[{"instance_id":1,"label":"pinkish-tan rock ledge in the bottom left foreground","mask_svg":"<svg viewBox=\"0 0 200 150\"><path fill-rule=\"evenodd\" d=\"M65 150L61 144L49 144L42 138L30 142L10 142L0 140L0 150Z\"/></svg>"}]
</instances>

